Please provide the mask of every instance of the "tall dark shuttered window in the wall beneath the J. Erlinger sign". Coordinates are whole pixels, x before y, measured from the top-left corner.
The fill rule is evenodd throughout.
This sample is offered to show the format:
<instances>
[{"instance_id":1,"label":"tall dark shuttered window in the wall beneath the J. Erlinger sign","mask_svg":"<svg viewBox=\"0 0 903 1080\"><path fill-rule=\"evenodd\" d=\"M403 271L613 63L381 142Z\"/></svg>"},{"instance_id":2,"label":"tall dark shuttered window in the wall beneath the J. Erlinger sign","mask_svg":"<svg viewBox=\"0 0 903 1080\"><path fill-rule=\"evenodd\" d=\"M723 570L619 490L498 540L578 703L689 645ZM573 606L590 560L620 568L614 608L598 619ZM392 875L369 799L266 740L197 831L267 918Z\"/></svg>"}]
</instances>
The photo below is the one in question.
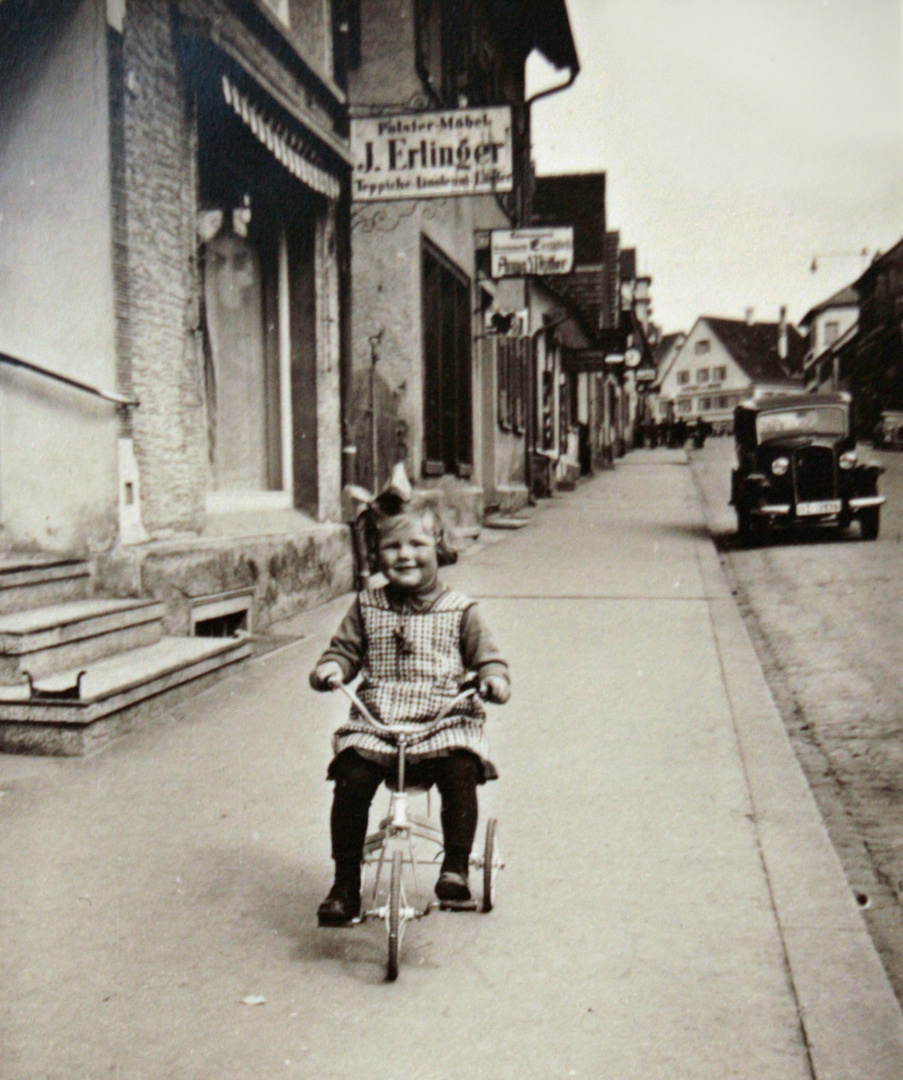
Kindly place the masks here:
<instances>
[{"instance_id":1,"label":"tall dark shuttered window in the wall beneath the J. Erlinger sign","mask_svg":"<svg viewBox=\"0 0 903 1080\"><path fill-rule=\"evenodd\" d=\"M470 281L423 241L423 470L473 472Z\"/></svg>"}]
</instances>

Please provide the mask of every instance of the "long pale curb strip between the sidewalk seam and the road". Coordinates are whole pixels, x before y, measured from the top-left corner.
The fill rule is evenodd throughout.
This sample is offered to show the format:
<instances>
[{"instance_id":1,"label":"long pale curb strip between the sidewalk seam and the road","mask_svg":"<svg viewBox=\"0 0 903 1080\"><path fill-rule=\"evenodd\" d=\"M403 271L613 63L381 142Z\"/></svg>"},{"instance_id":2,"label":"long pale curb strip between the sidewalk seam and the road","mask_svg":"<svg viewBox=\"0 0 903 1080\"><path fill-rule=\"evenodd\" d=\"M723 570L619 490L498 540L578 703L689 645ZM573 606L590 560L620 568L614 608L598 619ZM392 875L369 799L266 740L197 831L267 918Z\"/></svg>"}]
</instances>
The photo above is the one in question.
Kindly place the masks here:
<instances>
[{"instance_id":1,"label":"long pale curb strip between the sidewalk seam and the road","mask_svg":"<svg viewBox=\"0 0 903 1080\"><path fill-rule=\"evenodd\" d=\"M712 522L693 471L710 532ZM903 1012L714 544L698 549L756 835L814 1080L900 1080Z\"/></svg>"}]
</instances>

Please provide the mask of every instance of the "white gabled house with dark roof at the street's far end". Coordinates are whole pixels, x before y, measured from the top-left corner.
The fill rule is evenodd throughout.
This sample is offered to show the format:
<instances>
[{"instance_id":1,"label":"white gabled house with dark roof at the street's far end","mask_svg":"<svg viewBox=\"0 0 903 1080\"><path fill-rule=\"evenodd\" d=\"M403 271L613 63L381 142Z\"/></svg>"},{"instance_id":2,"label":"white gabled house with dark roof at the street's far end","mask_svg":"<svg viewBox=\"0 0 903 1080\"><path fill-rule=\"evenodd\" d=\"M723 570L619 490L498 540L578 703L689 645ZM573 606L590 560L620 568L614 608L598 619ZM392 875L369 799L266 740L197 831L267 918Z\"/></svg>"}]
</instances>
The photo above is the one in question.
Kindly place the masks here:
<instances>
[{"instance_id":1,"label":"white gabled house with dark roof at the street's far end","mask_svg":"<svg viewBox=\"0 0 903 1080\"><path fill-rule=\"evenodd\" d=\"M700 316L660 376L660 397L674 420L729 424L749 397L801 390L805 343L781 320Z\"/></svg>"}]
</instances>

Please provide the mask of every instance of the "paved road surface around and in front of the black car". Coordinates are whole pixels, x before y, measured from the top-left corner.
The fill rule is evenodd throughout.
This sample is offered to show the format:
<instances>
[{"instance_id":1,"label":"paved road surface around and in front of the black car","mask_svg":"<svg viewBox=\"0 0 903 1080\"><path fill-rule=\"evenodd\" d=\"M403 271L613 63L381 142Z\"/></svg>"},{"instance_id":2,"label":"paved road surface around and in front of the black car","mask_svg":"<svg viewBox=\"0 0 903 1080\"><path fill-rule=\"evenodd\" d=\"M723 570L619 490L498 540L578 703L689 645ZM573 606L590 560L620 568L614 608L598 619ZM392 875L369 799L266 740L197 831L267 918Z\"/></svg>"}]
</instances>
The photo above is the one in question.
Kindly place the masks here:
<instances>
[{"instance_id":1,"label":"paved road surface around and in front of the black car","mask_svg":"<svg viewBox=\"0 0 903 1080\"><path fill-rule=\"evenodd\" d=\"M903 1000L903 455L885 464L881 532L744 546L727 505L732 449L692 454L726 569L847 875Z\"/></svg>"}]
</instances>

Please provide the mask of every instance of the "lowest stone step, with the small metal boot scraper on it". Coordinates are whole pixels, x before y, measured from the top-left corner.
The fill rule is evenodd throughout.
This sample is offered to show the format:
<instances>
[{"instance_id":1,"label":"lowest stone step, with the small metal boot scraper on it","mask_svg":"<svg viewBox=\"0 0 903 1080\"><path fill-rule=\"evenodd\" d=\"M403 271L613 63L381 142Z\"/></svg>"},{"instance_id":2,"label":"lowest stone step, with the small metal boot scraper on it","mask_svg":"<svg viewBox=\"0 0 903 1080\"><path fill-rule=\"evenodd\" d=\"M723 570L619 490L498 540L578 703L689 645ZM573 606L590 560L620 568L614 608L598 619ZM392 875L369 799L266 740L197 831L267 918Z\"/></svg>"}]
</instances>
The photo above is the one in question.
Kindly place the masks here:
<instances>
[{"instance_id":1,"label":"lowest stone step, with the small metal boot scraper on it","mask_svg":"<svg viewBox=\"0 0 903 1080\"><path fill-rule=\"evenodd\" d=\"M0 752L79 756L192 697L251 656L246 637L164 637L153 645L0 687ZM78 698L66 697L79 684Z\"/></svg>"}]
</instances>

